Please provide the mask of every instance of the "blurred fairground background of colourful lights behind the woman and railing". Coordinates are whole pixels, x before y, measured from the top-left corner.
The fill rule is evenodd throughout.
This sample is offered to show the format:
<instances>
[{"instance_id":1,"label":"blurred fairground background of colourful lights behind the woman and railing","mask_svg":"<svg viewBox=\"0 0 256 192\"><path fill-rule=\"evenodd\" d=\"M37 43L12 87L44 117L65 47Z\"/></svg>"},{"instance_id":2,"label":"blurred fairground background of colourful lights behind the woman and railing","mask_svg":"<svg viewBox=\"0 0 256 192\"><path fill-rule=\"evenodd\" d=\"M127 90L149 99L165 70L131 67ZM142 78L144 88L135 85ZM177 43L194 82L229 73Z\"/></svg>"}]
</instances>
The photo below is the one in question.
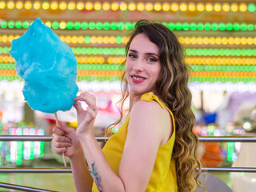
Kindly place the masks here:
<instances>
[{"instance_id":1,"label":"blurred fairground background of colourful lights behind the woman and railing","mask_svg":"<svg viewBox=\"0 0 256 192\"><path fill-rule=\"evenodd\" d=\"M255 10L252 0L0 0L0 134L51 135L55 126L54 114L33 111L24 102L23 82L8 53L12 40L39 17L72 48L78 61L79 89L98 98L96 135L104 135L106 126L119 117L115 104L121 96L122 71L118 70L126 58L124 46L135 22L147 19L173 30L186 51L191 107L197 119L194 132L198 136L255 136ZM73 108L59 111L58 117L66 126L77 126ZM198 154L203 166L256 167L255 147L255 143L203 142ZM63 167L63 162L50 142L0 141L0 166ZM256 174L214 174L233 191L255 190ZM0 174L0 181L74 191L71 174Z\"/></svg>"}]
</instances>

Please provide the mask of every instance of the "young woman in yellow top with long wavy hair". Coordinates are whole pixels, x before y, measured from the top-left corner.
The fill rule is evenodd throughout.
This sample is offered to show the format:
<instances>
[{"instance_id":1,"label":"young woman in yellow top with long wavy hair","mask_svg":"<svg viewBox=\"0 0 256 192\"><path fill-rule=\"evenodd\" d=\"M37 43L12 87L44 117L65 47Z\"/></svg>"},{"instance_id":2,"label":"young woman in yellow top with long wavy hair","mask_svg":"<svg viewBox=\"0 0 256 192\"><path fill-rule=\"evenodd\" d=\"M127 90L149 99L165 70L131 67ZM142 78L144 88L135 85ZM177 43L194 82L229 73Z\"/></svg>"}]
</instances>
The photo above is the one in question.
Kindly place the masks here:
<instances>
[{"instance_id":1,"label":"young woman in yellow top with long wavy hair","mask_svg":"<svg viewBox=\"0 0 256 192\"><path fill-rule=\"evenodd\" d=\"M178 39L161 24L140 21L126 45L123 65L120 102L129 96L130 111L102 150L93 134L98 108L88 92L74 98L77 130L54 128L53 148L70 158L76 190L195 191L201 186L201 165L192 132L188 70ZM87 109L78 101L86 102ZM121 119L122 113L114 126Z\"/></svg>"}]
</instances>

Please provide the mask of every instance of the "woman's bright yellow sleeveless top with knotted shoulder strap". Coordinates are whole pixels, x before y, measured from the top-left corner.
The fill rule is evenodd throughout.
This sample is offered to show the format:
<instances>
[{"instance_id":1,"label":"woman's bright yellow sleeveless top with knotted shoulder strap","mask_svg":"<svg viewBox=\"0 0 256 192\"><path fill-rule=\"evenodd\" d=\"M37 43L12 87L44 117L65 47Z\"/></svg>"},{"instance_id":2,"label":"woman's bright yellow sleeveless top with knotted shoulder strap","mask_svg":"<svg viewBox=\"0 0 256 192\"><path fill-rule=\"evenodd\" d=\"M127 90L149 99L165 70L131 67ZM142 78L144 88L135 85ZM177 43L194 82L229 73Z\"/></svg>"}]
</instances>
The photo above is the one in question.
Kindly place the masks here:
<instances>
[{"instance_id":1,"label":"woman's bright yellow sleeveless top with knotted shoulder strap","mask_svg":"<svg viewBox=\"0 0 256 192\"><path fill-rule=\"evenodd\" d=\"M176 174L175 162L174 162L174 159L171 159L171 154L174 148L174 140L175 140L174 114L152 92L143 94L140 100L150 102L153 99L156 102L158 102L162 108L165 107L169 111L172 118L174 131L171 138L166 143L159 146L158 148L158 154L154 162L154 169L150 177L150 182L146 186L146 192L151 192L151 191L176 192L178 190L177 190L177 182L176 182L176 175L175 175ZM113 136L111 136L111 138L106 142L106 145L102 149L102 152L105 155L107 162L109 162L115 174L118 174L118 168L122 158L122 151L126 142L126 134L127 134L129 119L130 119L130 116L122 124L118 132ZM92 191L93 192L98 191L98 188L95 185L95 182L93 184Z\"/></svg>"}]
</instances>

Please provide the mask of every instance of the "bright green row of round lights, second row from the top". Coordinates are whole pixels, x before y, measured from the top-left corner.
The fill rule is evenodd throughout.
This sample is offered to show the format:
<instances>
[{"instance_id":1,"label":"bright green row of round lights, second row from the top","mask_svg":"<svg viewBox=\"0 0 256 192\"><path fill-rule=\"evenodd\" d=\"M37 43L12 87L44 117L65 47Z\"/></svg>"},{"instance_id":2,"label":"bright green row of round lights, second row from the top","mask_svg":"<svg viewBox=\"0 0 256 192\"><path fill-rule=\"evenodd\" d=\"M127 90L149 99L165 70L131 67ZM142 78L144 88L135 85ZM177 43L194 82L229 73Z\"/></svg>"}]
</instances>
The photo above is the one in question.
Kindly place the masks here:
<instances>
[{"instance_id":1,"label":"bright green row of round lights, second row from the top","mask_svg":"<svg viewBox=\"0 0 256 192\"><path fill-rule=\"evenodd\" d=\"M6 21L0 22L2 29L28 29L32 24L30 21ZM54 30L133 30L135 22L72 22L72 21L46 21L46 26ZM254 23L239 22L162 22L170 30L256 30Z\"/></svg>"}]
</instances>

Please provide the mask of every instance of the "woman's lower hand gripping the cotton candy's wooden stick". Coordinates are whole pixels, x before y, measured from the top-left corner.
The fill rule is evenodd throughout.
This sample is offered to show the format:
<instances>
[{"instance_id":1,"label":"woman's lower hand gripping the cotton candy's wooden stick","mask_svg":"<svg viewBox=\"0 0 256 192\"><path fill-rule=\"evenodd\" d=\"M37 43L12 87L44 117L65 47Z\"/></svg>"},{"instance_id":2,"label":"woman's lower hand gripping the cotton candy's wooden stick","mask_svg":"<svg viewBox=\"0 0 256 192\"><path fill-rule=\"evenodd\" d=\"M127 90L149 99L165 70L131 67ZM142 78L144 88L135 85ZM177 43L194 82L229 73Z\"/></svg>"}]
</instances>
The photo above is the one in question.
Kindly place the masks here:
<instances>
[{"instance_id":1,"label":"woman's lower hand gripping the cotton candy's wooden stick","mask_svg":"<svg viewBox=\"0 0 256 192\"><path fill-rule=\"evenodd\" d=\"M76 155L83 154L82 146L78 140L75 130L62 126L55 126L53 130L53 139L51 141L52 148L57 154L65 154L68 158L73 158Z\"/></svg>"}]
</instances>

